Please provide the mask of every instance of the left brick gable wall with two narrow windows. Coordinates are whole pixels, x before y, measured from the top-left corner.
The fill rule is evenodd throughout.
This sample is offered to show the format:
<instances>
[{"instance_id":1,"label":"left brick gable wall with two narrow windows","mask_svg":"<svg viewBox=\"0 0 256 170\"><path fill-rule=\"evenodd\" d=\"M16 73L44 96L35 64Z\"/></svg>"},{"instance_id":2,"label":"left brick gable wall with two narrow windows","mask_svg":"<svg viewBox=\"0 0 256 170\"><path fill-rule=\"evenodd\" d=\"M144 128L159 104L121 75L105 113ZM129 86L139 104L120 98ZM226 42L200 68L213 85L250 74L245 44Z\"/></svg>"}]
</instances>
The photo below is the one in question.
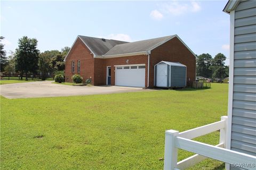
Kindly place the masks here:
<instances>
[{"instance_id":1,"label":"left brick gable wall with two narrow windows","mask_svg":"<svg viewBox=\"0 0 256 170\"><path fill-rule=\"evenodd\" d=\"M81 61L80 73L77 72L77 61ZM71 72L71 61L75 61L75 72ZM65 62L65 81L72 82L72 75L80 74L83 82L91 78L94 81L94 58L81 39L77 39Z\"/></svg>"}]
</instances>

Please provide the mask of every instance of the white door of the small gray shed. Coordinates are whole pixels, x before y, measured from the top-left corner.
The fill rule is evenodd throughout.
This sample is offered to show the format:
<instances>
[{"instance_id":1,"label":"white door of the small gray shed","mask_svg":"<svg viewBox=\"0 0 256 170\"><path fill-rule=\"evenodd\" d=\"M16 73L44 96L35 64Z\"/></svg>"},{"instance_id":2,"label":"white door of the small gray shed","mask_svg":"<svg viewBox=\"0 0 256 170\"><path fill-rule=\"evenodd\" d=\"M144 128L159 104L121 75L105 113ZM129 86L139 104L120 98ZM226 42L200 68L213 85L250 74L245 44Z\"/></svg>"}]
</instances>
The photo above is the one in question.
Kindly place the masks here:
<instances>
[{"instance_id":1,"label":"white door of the small gray shed","mask_svg":"<svg viewBox=\"0 0 256 170\"><path fill-rule=\"evenodd\" d=\"M156 86L167 87L167 64L157 64Z\"/></svg>"}]
</instances>

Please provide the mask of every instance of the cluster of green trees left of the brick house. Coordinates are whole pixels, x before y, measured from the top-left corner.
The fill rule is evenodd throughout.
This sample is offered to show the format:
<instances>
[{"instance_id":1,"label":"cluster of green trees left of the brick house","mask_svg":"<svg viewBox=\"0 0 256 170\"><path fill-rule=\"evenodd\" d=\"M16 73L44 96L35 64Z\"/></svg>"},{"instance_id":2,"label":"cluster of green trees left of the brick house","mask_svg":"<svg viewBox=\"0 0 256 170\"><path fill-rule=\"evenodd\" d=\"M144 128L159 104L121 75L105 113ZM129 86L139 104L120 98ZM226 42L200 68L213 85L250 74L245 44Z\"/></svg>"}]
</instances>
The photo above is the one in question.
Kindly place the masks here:
<instances>
[{"instance_id":1,"label":"cluster of green trees left of the brick house","mask_svg":"<svg viewBox=\"0 0 256 170\"><path fill-rule=\"evenodd\" d=\"M64 58L68 54L70 48L64 47L59 50L47 50L43 53L37 49L37 39L23 36L18 40L18 48L15 52L10 52L10 56L6 57L6 51L0 37L1 48L1 72L16 72L23 79L25 74L28 80L28 74L41 74L42 80L47 78L48 74L64 73Z\"/></svg>"}]
</instances>

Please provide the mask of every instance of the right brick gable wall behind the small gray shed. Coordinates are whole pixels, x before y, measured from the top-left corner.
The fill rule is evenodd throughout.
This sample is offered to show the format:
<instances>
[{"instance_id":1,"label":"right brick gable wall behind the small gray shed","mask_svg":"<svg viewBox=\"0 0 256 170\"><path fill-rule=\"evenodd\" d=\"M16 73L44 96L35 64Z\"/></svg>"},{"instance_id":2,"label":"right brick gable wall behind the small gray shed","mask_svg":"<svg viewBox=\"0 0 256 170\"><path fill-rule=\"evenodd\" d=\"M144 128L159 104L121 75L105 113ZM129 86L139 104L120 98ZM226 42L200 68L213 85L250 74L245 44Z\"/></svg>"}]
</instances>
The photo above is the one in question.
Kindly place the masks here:
<instances>
[{"instance_id":1,"label":"right brick gable wall behind the small gray shed","mask_svg":"<svg viewBox=\"0 0 256 170\"><path fill-rule=\"evenodd\" d=\"M161 62L179 62L187 66L187 86L196 79L196 58L190 50L174 37L163 45L151 50L149 67L149 87L154 86L154 66ZM190 82L188 80L190 79Z\"/></svg>"}]
</instances>

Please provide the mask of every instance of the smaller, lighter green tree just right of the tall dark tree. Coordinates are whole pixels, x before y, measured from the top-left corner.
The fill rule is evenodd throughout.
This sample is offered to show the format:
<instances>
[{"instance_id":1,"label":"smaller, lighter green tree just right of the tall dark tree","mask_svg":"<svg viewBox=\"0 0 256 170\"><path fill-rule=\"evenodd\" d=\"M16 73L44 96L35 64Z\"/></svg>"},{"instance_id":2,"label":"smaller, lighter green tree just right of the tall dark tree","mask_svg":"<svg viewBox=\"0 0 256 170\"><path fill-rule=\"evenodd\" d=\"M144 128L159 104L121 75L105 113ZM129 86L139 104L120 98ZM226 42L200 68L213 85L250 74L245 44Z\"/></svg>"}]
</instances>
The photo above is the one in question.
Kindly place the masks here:
<instances>
[{"instance_id":1,"label":"smaller, lighter green tree just right of the tall dark tree","mask_svg":"<svg viewBox=\"0 0 256 170\"><path fill-rule=\"evenodd\" d=\"M39 71L42 74L42 80L45 80L47 78L47 74L52 72L50 65L51 58L52 56L51 53L49 53L49 51L39 54L38 66Z\"/></svg>"}]
</instances>

